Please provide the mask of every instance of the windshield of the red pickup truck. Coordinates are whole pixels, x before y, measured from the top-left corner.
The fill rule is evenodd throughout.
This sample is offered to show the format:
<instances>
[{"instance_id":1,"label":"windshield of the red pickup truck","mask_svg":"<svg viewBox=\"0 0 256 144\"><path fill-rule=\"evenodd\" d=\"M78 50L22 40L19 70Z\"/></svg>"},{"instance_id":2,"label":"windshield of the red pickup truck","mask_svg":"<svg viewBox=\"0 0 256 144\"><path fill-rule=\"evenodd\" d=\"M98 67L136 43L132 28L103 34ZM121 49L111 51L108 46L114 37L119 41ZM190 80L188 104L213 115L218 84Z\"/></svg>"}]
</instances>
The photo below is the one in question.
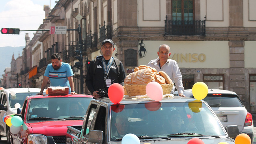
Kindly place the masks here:
<instances>
[{"instance_id":1,"label":"windshield of the red pickup truck","mask_svg":"<svg viewBox=\"0 0 256 144\"><path fill-rule=\"evenodd\" d=\"M58 97L31 99L27 121L58 119L84 119L84 115L92 98Z\"/></svg>"}]
</instances>

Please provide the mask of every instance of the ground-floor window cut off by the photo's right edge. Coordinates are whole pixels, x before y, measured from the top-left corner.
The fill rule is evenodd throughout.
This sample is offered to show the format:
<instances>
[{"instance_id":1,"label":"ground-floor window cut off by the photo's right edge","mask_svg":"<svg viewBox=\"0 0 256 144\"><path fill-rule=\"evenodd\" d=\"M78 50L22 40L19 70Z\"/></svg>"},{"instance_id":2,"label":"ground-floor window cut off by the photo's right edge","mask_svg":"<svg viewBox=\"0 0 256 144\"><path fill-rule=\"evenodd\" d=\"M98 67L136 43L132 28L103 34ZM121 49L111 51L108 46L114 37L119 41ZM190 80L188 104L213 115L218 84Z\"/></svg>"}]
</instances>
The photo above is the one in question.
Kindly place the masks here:
<instances>
[{"instance_id":1,"label":"ground-floor window cut off by the photo's right edge","mask_svg":"<svg viewBox=\"0 0 256 144\"><path fill-rule=\"evenodd\" d=\"M256 74L249 75L249 84L250 84L250 111L256 112Z\"/></svg>"}]
</instances>

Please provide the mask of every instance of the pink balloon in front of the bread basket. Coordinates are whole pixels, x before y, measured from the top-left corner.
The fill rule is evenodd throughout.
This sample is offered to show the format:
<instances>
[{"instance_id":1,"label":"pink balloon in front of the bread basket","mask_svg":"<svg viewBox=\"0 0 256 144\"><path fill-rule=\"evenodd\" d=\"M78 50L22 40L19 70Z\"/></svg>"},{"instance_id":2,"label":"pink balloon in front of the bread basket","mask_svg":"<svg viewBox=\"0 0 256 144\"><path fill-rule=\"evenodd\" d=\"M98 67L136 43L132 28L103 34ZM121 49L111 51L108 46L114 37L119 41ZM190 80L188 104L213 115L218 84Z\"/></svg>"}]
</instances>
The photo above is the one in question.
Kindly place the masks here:
<instances>
[{"instance_id":1,"label":"pink balloon in front of the bread basket","mask_svg":"<svg viewBox=\"0 0 256 144\"><path fill-rule=\"evenodd\" d=\"M152 100L160 101L163 99L163 88L157 82L148 83L146 86L146 93Z\"/></svg>"}]
</instances>

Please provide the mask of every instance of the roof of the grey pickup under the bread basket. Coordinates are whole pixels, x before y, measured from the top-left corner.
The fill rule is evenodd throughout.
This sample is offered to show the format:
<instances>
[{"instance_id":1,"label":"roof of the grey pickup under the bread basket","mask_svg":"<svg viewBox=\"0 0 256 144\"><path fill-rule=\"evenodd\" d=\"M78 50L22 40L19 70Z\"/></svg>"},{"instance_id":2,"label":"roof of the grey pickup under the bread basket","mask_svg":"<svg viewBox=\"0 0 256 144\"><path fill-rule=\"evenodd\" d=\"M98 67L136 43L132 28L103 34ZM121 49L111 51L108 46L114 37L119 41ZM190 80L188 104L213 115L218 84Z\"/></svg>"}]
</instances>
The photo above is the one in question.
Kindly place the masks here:
<instances>
[{"instance_id":1,"label":"roof of the grey pickup under the bread basket","mask_svg":"<svg viewBox=\"0 0 256 144\"><path fill-rule=\"evenodd\" d=\"M94 99L98 102L105 102L105 103L109 103L110 105L116 105L114 103L111 102L111 100L109 98L99 98L99 99ZM194 101L195 98L189 98L189 97L180 97L180 96L173 96L171 98L163 98L160 102L161 103L168 103L168 102L191 102ZM124 97L124 99L122 99L122 101L120 101L120 105L122 104L139 104L139 103L148 103L148 102L157 102L155 100L152 100L150 98L142 98L142 99L136 99L134 98L129 98L129 97ZM204 100L202 100L202 102L205 103Z\"/></svg>"}]
</instances>

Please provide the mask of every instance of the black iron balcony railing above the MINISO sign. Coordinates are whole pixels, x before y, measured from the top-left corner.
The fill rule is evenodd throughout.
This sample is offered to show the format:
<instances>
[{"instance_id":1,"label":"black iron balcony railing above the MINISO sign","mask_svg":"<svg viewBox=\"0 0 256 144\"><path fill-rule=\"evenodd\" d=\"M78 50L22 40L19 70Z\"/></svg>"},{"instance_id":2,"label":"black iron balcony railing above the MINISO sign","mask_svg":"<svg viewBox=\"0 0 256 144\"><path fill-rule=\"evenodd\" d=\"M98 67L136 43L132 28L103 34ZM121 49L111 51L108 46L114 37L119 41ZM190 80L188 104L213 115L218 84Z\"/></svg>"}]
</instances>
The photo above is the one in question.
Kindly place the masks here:
<instances>
[{"instance_id":1,"label":"black iron balcony railing above the MINISO sign","mask_svg":"<svg viewBox=\"0 0 256 144\"><path fill-rule=\"evenodd\" d=\"M204 20L164 20L164 34L166 36L205 36Z\"/></svg>"}]
</instances>

